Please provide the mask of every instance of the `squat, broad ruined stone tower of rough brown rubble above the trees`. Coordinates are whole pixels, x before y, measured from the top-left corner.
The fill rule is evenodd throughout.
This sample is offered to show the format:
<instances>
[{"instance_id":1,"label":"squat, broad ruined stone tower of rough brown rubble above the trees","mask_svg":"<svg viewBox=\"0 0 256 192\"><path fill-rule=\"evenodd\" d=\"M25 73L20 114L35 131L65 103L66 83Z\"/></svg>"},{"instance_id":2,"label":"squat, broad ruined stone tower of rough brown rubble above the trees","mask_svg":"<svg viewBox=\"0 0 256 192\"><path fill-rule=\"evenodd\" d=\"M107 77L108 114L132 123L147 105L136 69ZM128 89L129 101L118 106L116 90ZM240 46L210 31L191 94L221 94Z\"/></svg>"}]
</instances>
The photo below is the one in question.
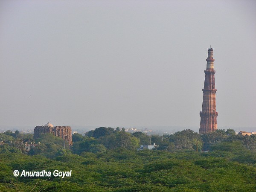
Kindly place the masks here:
<instances>
[{"instance_id":1,"label":"squat, broad ruined stone tower of rough brown rubble above the trees","mask_svg":"<svg viewBox=\"0 0 256 192\"><path fill-rule=\"evenodd\" d=\"M36 126L34 129L34 139L37 139L40 134L52 133L56 137L61 137L69 145L72 145L72 131L71 127L67 126L53 126L49 122L44 126Z\"/></svg>"}]
</instances>

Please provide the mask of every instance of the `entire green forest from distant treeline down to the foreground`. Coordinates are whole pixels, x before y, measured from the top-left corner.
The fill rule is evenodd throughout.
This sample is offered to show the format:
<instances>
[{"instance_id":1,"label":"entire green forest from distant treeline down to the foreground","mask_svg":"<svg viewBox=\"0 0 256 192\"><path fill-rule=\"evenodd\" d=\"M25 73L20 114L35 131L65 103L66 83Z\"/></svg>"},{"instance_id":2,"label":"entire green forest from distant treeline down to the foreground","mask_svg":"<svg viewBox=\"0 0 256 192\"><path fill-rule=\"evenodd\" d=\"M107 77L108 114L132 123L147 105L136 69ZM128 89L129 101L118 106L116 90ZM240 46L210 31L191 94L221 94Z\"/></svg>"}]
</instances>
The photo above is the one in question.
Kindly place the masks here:
<instances>
[{"instance_id":1,"label":"entire green forest from distant treeline down to the foreground","mask_svg":"<svg viewBox=\"0 0 256 192\"><path fill-rule=\"evenodd\" d=\"M124 128L96 128L73 134L73 145L41 134L0 133L0 192L253 192L256 191L256 135L234 130L198 134L145 135ZM140 145L156 143L152 150ZM70 177L15 177L13 172L70 171Z\"/></svg>"}]
</instances>

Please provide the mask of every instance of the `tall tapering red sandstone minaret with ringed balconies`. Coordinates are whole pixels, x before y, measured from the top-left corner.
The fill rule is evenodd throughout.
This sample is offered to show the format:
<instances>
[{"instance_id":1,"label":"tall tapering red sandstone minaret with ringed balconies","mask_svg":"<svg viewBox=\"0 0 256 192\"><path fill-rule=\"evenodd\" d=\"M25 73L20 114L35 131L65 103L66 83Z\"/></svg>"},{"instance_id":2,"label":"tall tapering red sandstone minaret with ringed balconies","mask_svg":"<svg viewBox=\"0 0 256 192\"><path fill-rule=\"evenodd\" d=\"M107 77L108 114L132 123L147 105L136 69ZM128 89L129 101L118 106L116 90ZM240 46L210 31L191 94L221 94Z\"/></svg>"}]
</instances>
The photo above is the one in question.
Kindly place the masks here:
<instances>
[{"instance_id":1,"label":"tall tapering red sandstone minaret with ringed balconies","mask_svg":"<svg viewBox=\"0 0 256 192\"><path fill-rule=\"evenodd\" d=\"M202 111L200 111L201 121L199 133L204 134L217 130L217 116L218 112L216 112L216 91L215 89L215 70L213 67L213 49L210 47L208 49L208 57L206 59L207 66L204 79L204 89L203 89L203 105Z\"/></svg>"}]
</instances>

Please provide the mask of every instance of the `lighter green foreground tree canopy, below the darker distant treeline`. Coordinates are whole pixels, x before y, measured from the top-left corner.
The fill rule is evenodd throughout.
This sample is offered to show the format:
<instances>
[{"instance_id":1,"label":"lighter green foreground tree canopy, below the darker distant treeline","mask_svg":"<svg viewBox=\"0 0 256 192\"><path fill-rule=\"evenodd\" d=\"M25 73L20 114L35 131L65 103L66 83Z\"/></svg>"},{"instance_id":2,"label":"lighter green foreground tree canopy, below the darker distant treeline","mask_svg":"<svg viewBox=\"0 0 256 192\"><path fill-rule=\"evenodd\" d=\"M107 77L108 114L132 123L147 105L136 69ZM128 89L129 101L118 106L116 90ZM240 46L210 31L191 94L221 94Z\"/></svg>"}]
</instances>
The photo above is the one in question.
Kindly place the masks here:
<instances>
[{"instance_id":1,"label":"lighter green foreground tree canopy, below the darker distant treeline","mask_svg":"<svg viewBox=\"0 0 256 192\"><path fill-rule=\"evenodd\" d=\"M80 142L80 141L78 141ZM92 148L95 144L90 145ZM0 154L1 191L242 191L256 190L253 151L241 142L212 145L212 151L176 152L116 148L81 155L60 150L41 155ZM244 152L245 151L245 152ZM253 161L254 160L254 161ZM70 171L71 177L14 177L13 171ZM39 183L38 183L39 182Z\"/></svg>"}]
</instances>

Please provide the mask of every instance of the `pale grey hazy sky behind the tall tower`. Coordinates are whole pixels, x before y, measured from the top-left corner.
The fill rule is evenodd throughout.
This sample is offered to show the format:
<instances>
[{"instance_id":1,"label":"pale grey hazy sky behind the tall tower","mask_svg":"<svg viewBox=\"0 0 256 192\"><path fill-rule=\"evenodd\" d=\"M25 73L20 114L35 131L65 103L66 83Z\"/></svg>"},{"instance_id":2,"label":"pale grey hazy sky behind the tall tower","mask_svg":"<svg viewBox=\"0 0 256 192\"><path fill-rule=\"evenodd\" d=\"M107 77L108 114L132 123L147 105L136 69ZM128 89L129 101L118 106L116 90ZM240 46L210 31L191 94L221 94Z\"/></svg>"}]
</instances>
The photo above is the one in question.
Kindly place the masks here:
<instances>
[{"instance_id":1,"label":"pale grey hazy sky behind the tall tower","mask_svg":"<svg viewBox=\"0 0 256 192\"><path fill-rule=\"evenodd\" d=\"M256 126L255 0L0 0L0 125Z\"/></svg>"}]
</instances>

